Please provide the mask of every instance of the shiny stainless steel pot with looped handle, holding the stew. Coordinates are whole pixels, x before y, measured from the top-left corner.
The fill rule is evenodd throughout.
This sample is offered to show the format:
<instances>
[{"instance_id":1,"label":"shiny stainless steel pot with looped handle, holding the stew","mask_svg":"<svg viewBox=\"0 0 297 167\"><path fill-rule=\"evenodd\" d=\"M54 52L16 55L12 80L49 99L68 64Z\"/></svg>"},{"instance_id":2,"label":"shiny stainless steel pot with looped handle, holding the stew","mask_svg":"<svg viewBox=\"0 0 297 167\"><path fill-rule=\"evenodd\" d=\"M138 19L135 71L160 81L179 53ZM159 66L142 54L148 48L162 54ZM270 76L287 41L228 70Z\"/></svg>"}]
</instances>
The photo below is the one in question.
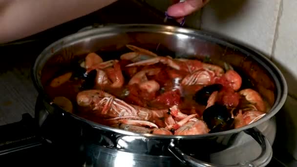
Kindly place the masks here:
<instances>
[{"instance_id":1,"label":"shiny stainless steel pot with looped handle, holding the stew","mask_svg":"<svg viewBox=\"0 0 297 167\"><path fill-rule=\"evenodd\" d=\"M125 48L128 43L152 51L158 48L158 53L163 55L174 54L175 57L200 60L208 58L212 63L222 67L224 62L227 62L242 75L247 75L253 86L272 107L259 121L242 128L195 136L161 136L138 134L100 125L65 112L51 103L42 85L57 71L70 67L86 53L94 51L112 53L114 50ZM104 59L114 59L116 56L120 55L110 54ZM37 58L32 74L40 93L37 104L43 106L36 112L41 129L48 125L48 120L53 120L50 125L61 123L58 128L63 126L67 126L66 129L76 128L77 133L72 135L72 140L83 141L85 154L92 157L88 162L91 166L98 165L98 162L106 162L105 165L108 166L126 163L126 166L131 167L182 164L194 167L266 166L272 158L272 146L257 127L263 128L267 124L271 126L273 116L282 107L287 97L287 85L283 75L276 65L262 54L205 32L167 25L127 24L86 29L45 48ZM45 132L43 135L50 138ZM236 142L238 144L238 139L247 138L249 135L260 145L260 155L235 165L210 163L212 153L228 150L236 145ZM245 152L250 151L249 145L245 146ZM177 159L182 163L176 161Z\"/></svg>"}]
</instances>

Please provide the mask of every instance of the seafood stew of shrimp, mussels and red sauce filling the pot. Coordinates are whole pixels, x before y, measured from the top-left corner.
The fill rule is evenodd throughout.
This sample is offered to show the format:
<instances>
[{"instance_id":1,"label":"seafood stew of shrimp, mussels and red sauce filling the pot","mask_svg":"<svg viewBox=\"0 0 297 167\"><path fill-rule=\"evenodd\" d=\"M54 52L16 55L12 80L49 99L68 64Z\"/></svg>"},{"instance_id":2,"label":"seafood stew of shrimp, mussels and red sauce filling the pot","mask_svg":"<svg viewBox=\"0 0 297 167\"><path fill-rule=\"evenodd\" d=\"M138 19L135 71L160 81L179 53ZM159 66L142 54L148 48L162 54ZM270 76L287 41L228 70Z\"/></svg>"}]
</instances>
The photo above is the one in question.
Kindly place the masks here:
<instances>
[{"instance_id":1,"label":"seafood stew of shrimp, mussels and red sauce filling the pot","mask_svg":"<svg viewBox=\"0 0 297 167\"><path fill-rule=\"evenodd\" d=\"M45 92L65 111L137 133L199 135L249 125L270 109L247 76L197 59L134 45L119 59L90 52Z\"/></svg>"}]
</instances>

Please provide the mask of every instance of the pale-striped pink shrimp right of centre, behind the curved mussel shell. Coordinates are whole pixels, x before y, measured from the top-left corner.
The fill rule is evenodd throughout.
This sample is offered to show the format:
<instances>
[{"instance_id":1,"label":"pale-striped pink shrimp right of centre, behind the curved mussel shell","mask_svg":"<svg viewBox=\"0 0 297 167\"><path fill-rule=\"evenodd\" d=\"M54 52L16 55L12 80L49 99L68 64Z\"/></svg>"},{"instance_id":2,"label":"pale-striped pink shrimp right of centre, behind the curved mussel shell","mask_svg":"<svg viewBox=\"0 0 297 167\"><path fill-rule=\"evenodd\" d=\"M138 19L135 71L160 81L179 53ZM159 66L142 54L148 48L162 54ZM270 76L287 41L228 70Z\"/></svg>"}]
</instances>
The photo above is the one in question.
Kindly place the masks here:
<instances>
[{"instance_id":1,"label":"pale-striped pink shrimp right of centre, behind the curved mussel shell","mask_svg":"<svg viewBox=\"0 0 297 167\"><path fill-rule=\"evenodd\" d=\"M187 75L183 81L182 85L195 85L195 84L203 84L209 85L214 83L214 72L210 70L197 70L189 75Z\"/></svg>"}]
</instances>

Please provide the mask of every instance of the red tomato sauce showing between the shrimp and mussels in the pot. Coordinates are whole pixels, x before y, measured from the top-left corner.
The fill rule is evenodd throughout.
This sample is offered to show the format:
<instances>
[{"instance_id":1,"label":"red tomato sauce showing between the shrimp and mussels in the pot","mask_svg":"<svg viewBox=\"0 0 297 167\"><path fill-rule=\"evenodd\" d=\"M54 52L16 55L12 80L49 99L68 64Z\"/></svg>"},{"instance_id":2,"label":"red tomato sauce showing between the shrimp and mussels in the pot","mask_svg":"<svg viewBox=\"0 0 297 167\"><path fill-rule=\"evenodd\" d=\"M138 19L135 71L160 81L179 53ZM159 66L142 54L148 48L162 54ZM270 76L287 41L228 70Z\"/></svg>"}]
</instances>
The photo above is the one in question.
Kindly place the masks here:
<instances>
[{"instance_id":1,"label":"red tomato sauce showing between the shrimp and mussels in the pot","mask_svg":"<svg viewBox=\"0 0 297 167\"><path fill-rule=\"evenodd\" d=\"M124 85L121 88L112 88L110 85L104 86L95 86L93 89L104 90L109 94L114 95L116 98L125 101L128 104L138 105L141 107L146 107L148 109L169 109L173 105L178 105L181 112L184 114L198 114L199 117L202 116L203 111L205 110L204 105L198 104L193 100L195 93L200 90L204 85L183 85L180 90L173 89L173 79L175 78L184 78L189 74L189 70L194 70L202 68L202 63L199 61L191 61L187 63L180 63L182 70L176 70L168 65L157 63L153 65L146 66L137 66L137 67L126 67L127 64L132 63L130 61L119 61L119 68L121 68L124 76ZM148 92L142 90L138 84L128 85L130 79L139 71L143 69L152 69L152 68L161 68L161 71L156 75L145 76L146 79L156 81L160 89L155 92ZM116 81L114 74L116 69L114 67L109 67L105 69L106 74L109 76L109 80L112 82ZM73 104L76 114L82 116L88 120L95 121L98 123L104 123L112 125L112 122L106 122L100 116L99 111L93 111L89 108L80 109L76 104L76 96L79 91L82 91L82 84L84 80L79 79L70 79L68 82L62 84L59 87L52 88L48 85L45 86L46 92L51 98L57 96L64 96L68 98ZM226 78L220 77L215 79L215 83L222 84L224 86L223 90L218 93L217 101L223 105L230 107L236 107L239 103L239 95L234 92L230 86L230 83ZM150 120L151 122L157 125L165 125L165 118L160 118L156 120Z\"/></svg>"}]
</instances>

